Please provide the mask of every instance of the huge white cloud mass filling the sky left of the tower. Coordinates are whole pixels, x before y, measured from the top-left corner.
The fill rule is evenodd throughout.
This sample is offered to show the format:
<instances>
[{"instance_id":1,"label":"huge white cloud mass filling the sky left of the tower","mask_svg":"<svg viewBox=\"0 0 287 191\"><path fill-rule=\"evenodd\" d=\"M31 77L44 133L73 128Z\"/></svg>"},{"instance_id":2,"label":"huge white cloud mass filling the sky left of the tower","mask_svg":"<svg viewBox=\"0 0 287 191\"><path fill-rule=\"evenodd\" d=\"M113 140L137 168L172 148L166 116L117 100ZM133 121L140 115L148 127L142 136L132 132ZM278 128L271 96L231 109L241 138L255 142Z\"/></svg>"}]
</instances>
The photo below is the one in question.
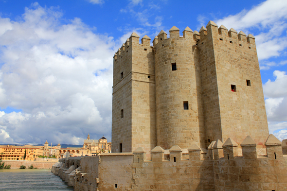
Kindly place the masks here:
<instances>
[{"instance_id":1,"label":"huge white cloud mass filling the sky left of the tower","mask_svg":"<svg viewBox=\"0 0 287 191\"><path fill-rule=\"evenodd\" d=\"M2 143L82 144L110 140L112 37L95 35L79 18L34 3L20 21L0 17ZM1 23L4 23L3 25ZM94 137L93 137L94 136Z\"/></svg>"}]
</instances>

